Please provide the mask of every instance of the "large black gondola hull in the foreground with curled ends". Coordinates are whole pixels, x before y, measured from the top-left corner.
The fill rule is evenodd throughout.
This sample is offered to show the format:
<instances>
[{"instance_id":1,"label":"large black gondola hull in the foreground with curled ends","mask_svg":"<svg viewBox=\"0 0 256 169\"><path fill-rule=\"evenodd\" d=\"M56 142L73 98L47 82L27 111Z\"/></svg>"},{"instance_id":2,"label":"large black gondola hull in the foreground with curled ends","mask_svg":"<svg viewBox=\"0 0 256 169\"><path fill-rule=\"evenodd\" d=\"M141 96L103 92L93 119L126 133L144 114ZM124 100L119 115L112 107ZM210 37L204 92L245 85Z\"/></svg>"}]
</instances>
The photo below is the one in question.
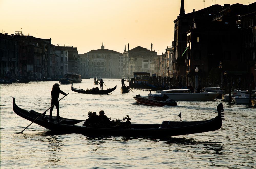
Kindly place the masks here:
<instances>
[{"instance_id":1,"label":"large black gondola hull in the foreground with curled ends","mask_svg":"<svg viewBox=\"0 0 256 169\"><path fill-rule=\"evenodd\" d=\"M207 131L218 130L222 126L222 120L224 120L223 106L220 103L217 106L218 115L215 118L203 121L163 121L162 124L133 124L129 125L116 125L109 126L107 128L98 127L86 127L84 126L85 120L76 120L68 118L56 119L56 117L49 118L45 115L44 118L37 118L40 113L33 110L26 111L18 107L13 98L13 111L33 122L43 126L49 130L61 132L61 133L81 133L85 135L97 135L97 136L150 136L150 137L169 137L179 136L187 134L202 133ZM121 122L127 123L127 122ZM114 123L113 123L114 124Z\"/></svg>"}]
</instances>

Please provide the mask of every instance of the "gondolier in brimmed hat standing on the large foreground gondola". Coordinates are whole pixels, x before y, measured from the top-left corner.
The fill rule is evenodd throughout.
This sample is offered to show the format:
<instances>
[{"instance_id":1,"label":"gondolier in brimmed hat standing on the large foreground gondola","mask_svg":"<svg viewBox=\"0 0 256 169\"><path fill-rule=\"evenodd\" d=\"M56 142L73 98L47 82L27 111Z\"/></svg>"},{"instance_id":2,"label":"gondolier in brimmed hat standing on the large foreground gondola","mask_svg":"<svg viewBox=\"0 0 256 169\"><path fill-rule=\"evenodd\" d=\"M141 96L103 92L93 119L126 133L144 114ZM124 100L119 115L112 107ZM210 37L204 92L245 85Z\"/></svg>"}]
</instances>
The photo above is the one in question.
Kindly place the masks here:
<instances>
[{"instance_id":1,"label":"gondolier in brimmed hat standing on the large foreground gondola","mask_svg":"<svg viewBox=\"0 0 256 169\"><path fill-rule=\"evenodd\" d=\"M51 95L52 95L51 105L55 105L55 107L56 107L56 109L57 109L57 116L56 116L57 119L61 118L61 117L59 116L59 101L58 101L59 94L61 93L61 94L65 95L65 96L67 95L65 92L63 92L63 91L60 90L59 86L60 86L60 85L59 85L58 83L55 83L55 84L53 85L53 89L52 89L52 91L51 91ZM50 108L50 118L52 118L53 107L54 107L54 106L52 106L52 107Z\"/></svg>"}]
</instances>

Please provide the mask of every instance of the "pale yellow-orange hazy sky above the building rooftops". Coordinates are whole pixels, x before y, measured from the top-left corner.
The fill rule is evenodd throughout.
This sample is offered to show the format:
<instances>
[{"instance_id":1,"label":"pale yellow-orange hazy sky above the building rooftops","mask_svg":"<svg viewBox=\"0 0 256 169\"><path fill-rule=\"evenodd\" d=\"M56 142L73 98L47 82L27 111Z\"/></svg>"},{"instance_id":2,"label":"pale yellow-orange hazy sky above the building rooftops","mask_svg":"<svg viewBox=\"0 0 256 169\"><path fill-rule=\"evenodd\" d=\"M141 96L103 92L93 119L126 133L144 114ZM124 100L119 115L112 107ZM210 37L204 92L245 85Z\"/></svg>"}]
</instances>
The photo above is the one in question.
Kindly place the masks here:
<instances>
[{"instance_id":1,"label":"pale yellow-orange hazy sky above the building rooftops","mask_svg":"<svg viewBox=\"0 0 256 169\"><path fill-rule=\"evenodd\" d=\"M184 0L186 13L212 4L246 4L254 0ZM53 45L77 47L78 53L105 49L120 53L137 46L157 54L174 37L180 0L0 0L0 32L52 38Z\"/></svg>"}]
</instances>

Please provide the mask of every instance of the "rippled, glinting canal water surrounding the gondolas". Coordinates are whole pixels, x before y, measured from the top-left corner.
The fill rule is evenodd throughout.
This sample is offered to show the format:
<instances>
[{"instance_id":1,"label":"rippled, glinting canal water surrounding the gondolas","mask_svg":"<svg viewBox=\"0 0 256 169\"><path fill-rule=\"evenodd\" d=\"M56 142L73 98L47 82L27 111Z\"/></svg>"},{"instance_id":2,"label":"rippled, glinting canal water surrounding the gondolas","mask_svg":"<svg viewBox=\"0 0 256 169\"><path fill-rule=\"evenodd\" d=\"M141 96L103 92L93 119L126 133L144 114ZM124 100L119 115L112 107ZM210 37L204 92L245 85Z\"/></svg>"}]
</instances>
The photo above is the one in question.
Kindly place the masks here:
<instances>
[{"instance_id":1,"label":"rippled, glinting canal water surrounding the gondolas","mask_svg":"<svg viewBox=\"0 0 256 169\"><path fill-rule=\"evenodd\" d=\"M71 85L60 101L60 116L87 119L89 111L104 110L112 119L129 113L132 123L161 123L163 120L206 120L217 115L214 101L178 101L175 107L137 105L132 96L149 91L131 89L121 94L120 79L104 79L108 95L80 94ZM12 97L25 110L44 112L50 106L50 92L57 81L0 85L1 168L254 168L256 109L223 103L225 121L217 131L167 138L96 137L81 134L56 135L13 112ZM127 83L126 83L127 84ZM93 79L83 79L75 88L91 89ZM106 87L104 86L106 89ZM60 94L60 98L63 95ZM49 111L47 112L49 113ZM56 109L53 111L56 115Z\"/></svg>"}]
</instances>

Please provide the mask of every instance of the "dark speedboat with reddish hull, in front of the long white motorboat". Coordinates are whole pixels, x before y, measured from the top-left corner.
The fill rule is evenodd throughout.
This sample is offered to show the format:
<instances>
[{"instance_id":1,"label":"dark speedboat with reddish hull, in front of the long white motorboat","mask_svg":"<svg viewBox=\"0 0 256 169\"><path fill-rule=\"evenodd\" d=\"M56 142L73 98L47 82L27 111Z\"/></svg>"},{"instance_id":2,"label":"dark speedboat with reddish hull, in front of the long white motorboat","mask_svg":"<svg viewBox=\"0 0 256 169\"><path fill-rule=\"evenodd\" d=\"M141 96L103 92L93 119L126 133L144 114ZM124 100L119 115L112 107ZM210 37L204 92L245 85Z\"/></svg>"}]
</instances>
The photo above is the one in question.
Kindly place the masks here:
<instances>
[{"instance_id":1,"label":"dark speedboat with reddish hull, in front of the long white motorboat","mask_svg":"<svg viewBox=\"0 0 256 169\"><path fill-rule=\"evenodd\" d=\"M162 96L152 94L149 96L136 95L133 97L138 104L145 104L149 106L177 106L177 102L171 99L164 100Z\"/></svg>"}]
</instances>

